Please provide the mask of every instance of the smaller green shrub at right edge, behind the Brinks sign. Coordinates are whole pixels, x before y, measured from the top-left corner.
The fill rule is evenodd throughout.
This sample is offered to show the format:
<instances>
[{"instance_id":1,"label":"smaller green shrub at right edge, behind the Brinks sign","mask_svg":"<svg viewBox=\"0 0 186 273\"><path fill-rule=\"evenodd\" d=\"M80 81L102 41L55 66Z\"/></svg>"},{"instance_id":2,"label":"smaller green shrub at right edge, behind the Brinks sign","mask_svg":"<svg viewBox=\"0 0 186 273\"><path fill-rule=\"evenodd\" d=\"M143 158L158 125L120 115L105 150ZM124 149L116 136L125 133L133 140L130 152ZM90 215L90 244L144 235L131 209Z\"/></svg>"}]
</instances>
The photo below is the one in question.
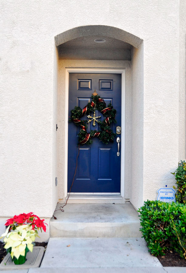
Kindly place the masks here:
<instances>
[{"instance_id":1,"label":"smaller green shrub at right edge, behind the Brinks sign","mask_svg":"<svg viewBox=\"0 0 186 273\"><path fill-rule=\"evenodd\" d=\"M186 204L186 162L181 160L178 163L178 169L171 174L174 174L177 184L177 193L175 194L176 201ZM176 187L174 187L174 189L176 189Z\"/></svg>"}]
</instances>

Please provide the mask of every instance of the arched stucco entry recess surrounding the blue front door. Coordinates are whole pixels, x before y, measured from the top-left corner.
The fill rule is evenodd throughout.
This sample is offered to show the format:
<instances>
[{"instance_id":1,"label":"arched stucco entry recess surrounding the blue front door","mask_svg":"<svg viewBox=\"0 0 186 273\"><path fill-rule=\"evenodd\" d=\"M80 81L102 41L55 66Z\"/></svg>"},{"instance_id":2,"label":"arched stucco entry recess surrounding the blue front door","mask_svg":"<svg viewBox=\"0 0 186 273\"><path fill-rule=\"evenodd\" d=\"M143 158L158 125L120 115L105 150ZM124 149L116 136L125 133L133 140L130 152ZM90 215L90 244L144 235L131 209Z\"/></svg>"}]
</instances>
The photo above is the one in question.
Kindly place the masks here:
<instances>
[{"instance_id":1,"label":"arched stucco entry recess surrounding the blue front door","mask_svg":"<svg viewBox=\"0 0 186 273\"><path fill-rule=\"evenodd\" d=\"M123 188L117 197L77 196L72 202L118 202L132 201L143 198L143 177L139 175L138 185L134 176L133 163L142 158L143 149L143 41L137 36L122 29L105 25L88 25L69 29L55 37L59 52L59 98L58 98L58 181L59 200L67 194L68 173L68 89L69 73L92 71L112 72L121 70L126 73L125 89L125 154L123 154ZM104 43L95 43L96 39L104 39ZM105 70L104 70L105 69ZM110 70L111 71L111 70ZM123 108L122 108L123 109ZM138 127L140 124L140 127ZM138 137L137 137L138 136ZM65 141L64 141L65 140ZM133 162L133 163L132 163ZM140 163L143 164L143 163ZM138 166L137 166L138 168ZM140 173L140 167L139 167ZM138 194L137 187L141 192ZM69 200L71 201L71 200ZM135 203L135 202L134 202ZM135 205L135 204L134 204Z\"/></svg>"}]
</instances>

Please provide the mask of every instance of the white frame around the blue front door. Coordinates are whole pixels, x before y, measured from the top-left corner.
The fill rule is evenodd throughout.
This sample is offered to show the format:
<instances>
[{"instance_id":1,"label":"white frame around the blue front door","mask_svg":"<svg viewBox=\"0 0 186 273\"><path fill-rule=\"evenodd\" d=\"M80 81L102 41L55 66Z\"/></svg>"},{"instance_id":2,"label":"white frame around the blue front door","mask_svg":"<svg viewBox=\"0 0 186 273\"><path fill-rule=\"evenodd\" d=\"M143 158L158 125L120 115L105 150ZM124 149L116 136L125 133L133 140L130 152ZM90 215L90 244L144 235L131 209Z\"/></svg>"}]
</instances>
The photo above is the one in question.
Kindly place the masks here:
<instances>
[{"instance_id":1,"label":"white frame around the blue front door","mask_svg":"<svg viewBox=\"0 0 186 273\"><path fill-rule=\"evenodd\" d=\"M124 197L125 183L125 69L110 68L66 68L65 73L65 176L64 176L64 195L67 197L67 177L68 177L68 106L69 106L69 73L115 73L121 74L121 194L110 196L82 196L78 194L70 195L69 199L122 199ZM117 145L117 143L116 143Z\"/></svg>"}]
</instances>

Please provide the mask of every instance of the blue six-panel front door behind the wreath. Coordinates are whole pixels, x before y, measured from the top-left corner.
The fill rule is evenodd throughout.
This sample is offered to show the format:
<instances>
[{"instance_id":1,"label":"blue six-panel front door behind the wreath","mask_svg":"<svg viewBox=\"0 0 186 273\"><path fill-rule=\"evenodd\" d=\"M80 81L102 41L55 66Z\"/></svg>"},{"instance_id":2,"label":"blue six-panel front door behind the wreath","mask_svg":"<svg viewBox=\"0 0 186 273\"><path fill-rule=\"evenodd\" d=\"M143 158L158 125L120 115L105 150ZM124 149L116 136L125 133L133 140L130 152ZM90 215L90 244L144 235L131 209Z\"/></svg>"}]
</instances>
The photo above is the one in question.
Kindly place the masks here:
<instances>
[{"instance_id":1,"label":"blue six-panel front door behind the wreath","mask_svg":"<svg viewBox=\"0 0 186 273\"><path fill-rule=\"evenodd\" d=\"M92 93L96 92L105 103L111 103L117 110L117 123L111 123L111 129L116 133L116 127L121 126L121 74L69 74L69 116L75 106L83 109L91 101ZM92 113L93 114L93 113ZM96 110L96 116L100 116ZM88 119L87 115L81 120ZM100 120L104 117L101 115ZM88 124L87 132L99 130L98 124ZM68 192L73 181L78 153L78 132L80 126L69 123L68 127ZM121 135L117 135L121 138ZM93 143L80 146L78 167L71 193L120 193L121 152L117 156L117 142L103 144L93 138Z\"/></svg>"}]
</instances>

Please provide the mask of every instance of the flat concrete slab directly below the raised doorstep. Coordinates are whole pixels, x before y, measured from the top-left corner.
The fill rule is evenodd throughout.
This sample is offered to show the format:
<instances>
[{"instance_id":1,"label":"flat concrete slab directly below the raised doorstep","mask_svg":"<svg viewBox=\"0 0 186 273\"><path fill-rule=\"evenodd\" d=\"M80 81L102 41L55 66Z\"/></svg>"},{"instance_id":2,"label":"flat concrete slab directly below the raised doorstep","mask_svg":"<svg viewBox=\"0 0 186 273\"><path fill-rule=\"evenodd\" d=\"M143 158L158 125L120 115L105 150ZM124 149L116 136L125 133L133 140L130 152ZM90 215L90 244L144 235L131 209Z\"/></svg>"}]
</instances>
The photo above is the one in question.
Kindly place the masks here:
<instances>
[{"instance_id":1,"label":"flat concrete slab directly below the raised doorstep","mask_svg":"<svg viewBox=\"0 0 186 273\"><path fill-rule=\"evenodd\" d=\"M162 265L150 255L143 238L50 238L40 266L115 268L113 272L125 267L156 267L158 272Z\"/></svg>"}]
</instances>

